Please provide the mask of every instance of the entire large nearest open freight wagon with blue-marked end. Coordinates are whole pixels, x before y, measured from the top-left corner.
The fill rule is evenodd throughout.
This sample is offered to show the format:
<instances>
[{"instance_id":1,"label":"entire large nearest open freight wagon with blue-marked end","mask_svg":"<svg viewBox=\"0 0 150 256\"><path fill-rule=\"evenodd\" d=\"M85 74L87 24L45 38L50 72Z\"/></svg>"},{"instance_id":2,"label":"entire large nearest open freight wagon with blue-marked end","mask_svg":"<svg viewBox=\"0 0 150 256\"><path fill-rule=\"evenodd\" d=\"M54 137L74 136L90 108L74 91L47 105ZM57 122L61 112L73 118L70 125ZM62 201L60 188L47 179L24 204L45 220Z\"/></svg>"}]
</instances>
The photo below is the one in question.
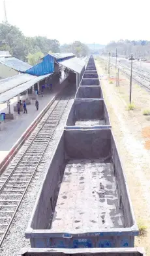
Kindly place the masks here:
<instances>
[{"instance_id":1,"label":"entire large nearest open freight wagon with blue-marked end","mask_svg":"<svg viewBox=\"0 0 150 256\"><path fill-rule=\"evenodd\" d=\"M137 235L111 129L65 130L25 232L31 247L134 247Z\"/></svg>"}]
</instances>

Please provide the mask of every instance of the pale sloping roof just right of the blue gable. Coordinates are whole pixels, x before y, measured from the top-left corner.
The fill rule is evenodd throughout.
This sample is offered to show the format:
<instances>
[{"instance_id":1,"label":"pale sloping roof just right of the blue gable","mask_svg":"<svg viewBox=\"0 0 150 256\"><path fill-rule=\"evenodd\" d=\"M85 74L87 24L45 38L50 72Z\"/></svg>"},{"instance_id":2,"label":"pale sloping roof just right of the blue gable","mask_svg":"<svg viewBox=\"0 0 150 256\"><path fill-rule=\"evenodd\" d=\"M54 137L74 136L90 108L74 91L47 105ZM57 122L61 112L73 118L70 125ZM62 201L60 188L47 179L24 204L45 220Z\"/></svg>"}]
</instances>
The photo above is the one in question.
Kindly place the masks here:
<instances>
[{"instance_id":1,"label":"pale sloping roof just right of the blue gable","mask_svg":"<svg viewBox=\"0 0 150 256\"><path fill-rule=\"evenodd\" d=\"M85 66L85 61L77 57L69 58L68 60L57 60L57 62L78 74L82 72L83 66Z\"/></svg>"}]
</instances>

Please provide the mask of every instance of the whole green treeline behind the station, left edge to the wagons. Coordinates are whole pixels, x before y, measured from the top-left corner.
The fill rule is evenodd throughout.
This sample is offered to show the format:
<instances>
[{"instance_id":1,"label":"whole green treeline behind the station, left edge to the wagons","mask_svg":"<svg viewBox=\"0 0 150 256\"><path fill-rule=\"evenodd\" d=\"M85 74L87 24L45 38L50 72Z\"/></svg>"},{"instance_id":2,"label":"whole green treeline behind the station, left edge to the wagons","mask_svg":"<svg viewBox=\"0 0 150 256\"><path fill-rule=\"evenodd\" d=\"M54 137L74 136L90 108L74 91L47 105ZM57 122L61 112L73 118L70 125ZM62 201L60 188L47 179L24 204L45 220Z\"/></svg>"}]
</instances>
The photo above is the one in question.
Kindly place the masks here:
<instances>
[{"instance_id":1,"label":"whole green treeline behind the station, left edge to the wagons","mask_svg":"<svg viewBox=\"0 0 150 256\"><path fill-rule=\"evenodd\" d=\"M43 54L74 53L76 56L87 56L89 49L80 41L70 45L62 45L56 39L47 37L25 37L19 28L8 23L0 24L0 51L9 51L12 56L33 65L38 63Z\"/></svg>"}]
</instances>

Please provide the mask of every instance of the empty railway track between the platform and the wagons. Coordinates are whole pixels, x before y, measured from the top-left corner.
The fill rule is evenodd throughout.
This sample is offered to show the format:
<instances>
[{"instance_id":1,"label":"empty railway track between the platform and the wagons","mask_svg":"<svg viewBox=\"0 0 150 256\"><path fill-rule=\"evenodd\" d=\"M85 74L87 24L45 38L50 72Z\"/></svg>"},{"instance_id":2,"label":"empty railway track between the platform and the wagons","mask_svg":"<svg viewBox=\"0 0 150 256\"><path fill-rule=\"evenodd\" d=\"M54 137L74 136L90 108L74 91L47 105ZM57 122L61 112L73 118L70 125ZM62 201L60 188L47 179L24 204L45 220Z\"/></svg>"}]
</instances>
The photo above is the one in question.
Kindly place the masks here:
<instances>
[{"instance_id":1,"label":"empty railway track between the platform and the wagons","mask_svg":"<svg viewBox=\"0 0 150 256\"><path fill-rule=\"evenodd\" d=\"M22 203L29 185L42 162L44 153L61 116L65 112L70 96L55 100L28 139L23 150L0 179L0 246L3 244L10 225Z\"/></svg>"}]
</instances>

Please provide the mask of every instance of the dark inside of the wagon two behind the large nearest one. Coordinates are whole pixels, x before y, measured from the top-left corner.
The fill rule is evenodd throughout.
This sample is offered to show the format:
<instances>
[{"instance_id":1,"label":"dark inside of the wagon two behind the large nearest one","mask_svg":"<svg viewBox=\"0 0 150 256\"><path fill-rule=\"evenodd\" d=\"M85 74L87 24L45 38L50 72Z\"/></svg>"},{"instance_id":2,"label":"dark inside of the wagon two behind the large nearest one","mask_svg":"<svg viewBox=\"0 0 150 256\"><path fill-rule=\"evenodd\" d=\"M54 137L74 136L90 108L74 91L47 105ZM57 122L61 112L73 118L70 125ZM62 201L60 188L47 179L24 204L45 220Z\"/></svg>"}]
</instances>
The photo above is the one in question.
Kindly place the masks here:
<instances>
[{"instance_id":1,"label":"dark inside of the wagon two behind the large nearest one","mask_svg":"<svg viewBox=\"0 0 150 256\"><path fill-rule=\"evenodd\" d=\"M80 86L75 98L103 98L102 89L99 85Z\"/></svg>"}]
</instances>

